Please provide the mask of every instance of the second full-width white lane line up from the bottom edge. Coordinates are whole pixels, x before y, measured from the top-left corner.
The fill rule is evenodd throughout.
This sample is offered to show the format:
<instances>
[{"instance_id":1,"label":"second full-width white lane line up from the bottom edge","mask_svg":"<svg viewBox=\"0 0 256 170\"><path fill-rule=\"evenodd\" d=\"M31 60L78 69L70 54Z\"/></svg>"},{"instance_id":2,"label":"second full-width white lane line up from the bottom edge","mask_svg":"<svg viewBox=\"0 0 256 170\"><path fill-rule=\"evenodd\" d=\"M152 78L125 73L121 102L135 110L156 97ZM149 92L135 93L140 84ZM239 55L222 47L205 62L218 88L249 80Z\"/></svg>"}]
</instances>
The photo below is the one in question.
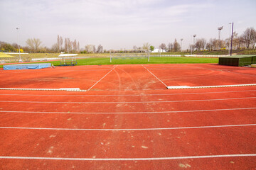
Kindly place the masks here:
<instances>
[{"instance_id":1,"label":"second full-width white lane line up from the bottom edge","mask_svg":"<svg viewBox=\"0 0 256 170\"><path fill-rule=\"evenodd\" d=\"M142 130L181 130L181 129L202 129L202 128L232 128L255 126L256 124L245 125L215 125L215 126L194 126L181 128L139 128L139 129L72 129L72 128L28 128L28 127L0 127L0 129L19 129L19 130L79 130L79 131L142 131Z\"/></svg>"}]
</instances>

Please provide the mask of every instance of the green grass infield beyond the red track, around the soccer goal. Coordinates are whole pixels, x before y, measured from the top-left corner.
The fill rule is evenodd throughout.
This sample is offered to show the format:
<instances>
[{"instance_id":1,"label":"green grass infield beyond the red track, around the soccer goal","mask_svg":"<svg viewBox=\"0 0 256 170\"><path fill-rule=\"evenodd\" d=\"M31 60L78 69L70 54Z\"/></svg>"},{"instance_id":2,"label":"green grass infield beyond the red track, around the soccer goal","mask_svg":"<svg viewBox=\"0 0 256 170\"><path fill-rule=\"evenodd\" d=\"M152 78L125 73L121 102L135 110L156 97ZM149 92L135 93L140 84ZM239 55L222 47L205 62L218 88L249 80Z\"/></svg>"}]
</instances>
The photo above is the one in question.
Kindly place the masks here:
<instances>
[{"instance_id":1,"label":"green grass infield beyond the red track, around the soccer goal","mask_svg":"<svg viewBox=\"0 0 256 170\"><path fill-rule=\"evenodd\" d=\"M148 62L146 58L123 58L123 59L113 59L110 62L108 57L93 57L86 59L77 60L77 65L105 65L105 64L187 64L187 63L218 63L218 58L203 58L203 57L150 57ZM42 62L35 62L42 63ZM60 61L48 61L47 63L52 63L54 66L60 66ZM0 65L3 68L3 65Z\"/></svg>"}]
</instances>

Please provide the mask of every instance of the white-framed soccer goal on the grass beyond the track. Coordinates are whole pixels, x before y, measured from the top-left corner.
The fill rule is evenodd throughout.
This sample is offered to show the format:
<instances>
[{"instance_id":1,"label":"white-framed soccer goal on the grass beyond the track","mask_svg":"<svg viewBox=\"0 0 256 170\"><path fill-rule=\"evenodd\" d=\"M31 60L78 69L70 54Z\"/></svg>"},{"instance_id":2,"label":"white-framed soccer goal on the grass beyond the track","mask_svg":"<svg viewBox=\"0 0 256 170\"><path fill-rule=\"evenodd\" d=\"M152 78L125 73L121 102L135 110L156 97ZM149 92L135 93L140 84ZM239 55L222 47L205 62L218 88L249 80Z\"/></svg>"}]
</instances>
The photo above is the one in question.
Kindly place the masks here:
<instances>
[{"instance_id":1,"label":"white-framed soccer goal on the grass beyond the track","mask_svg":"<svg viewBox=\"0 0 256 170\"><path fill-rule=\"evenodd\" d=\"M110 50L110 62L113 59L142 59L146 58L149 62L149 50L136 49L136 50Z\"/></svg>"}]
</instances>

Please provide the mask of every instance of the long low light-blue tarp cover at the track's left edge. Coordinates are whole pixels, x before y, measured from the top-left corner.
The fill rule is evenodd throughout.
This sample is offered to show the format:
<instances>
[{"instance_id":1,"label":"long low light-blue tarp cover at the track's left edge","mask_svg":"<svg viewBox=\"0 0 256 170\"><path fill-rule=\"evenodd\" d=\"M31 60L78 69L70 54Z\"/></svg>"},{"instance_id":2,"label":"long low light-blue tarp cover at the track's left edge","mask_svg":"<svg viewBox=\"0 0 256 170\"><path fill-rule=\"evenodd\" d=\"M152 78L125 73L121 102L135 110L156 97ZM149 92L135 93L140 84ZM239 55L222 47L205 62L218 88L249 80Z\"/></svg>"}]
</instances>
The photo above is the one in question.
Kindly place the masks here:
<instances>
[{"instance_id":1,"label":"long low light-blue tarp cover at the track's left edge","mask_svg":"<svg viewBox=\"0 0 256 170\"><path fill-rule=\"evenodd\" d=\"M12 64L12 65L4 65L4 70L11 69L43 69L50 67L50 63L43 64Z\"/></svg>"}]
</instances>

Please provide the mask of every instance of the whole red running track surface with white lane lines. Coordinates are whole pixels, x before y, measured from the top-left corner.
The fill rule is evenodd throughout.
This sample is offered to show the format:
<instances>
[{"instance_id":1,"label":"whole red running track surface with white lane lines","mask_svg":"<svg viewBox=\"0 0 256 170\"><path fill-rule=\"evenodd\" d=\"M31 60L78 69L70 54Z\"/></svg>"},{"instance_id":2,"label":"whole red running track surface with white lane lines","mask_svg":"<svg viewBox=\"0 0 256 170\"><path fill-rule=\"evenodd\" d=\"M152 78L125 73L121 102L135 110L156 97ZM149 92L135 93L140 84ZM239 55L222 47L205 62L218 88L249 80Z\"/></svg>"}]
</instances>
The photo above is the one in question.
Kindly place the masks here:
<instances>
[{"instance_id":1,"label":"whole red running track surface with white lane lines","mask_svg":"<svg viewBox=\"0 0 256 170\"><path fill-rule=\"evenodd\" d=\"M0 70L0 169L256 169L256 69Z\"/></svg>"}]
</instances>

